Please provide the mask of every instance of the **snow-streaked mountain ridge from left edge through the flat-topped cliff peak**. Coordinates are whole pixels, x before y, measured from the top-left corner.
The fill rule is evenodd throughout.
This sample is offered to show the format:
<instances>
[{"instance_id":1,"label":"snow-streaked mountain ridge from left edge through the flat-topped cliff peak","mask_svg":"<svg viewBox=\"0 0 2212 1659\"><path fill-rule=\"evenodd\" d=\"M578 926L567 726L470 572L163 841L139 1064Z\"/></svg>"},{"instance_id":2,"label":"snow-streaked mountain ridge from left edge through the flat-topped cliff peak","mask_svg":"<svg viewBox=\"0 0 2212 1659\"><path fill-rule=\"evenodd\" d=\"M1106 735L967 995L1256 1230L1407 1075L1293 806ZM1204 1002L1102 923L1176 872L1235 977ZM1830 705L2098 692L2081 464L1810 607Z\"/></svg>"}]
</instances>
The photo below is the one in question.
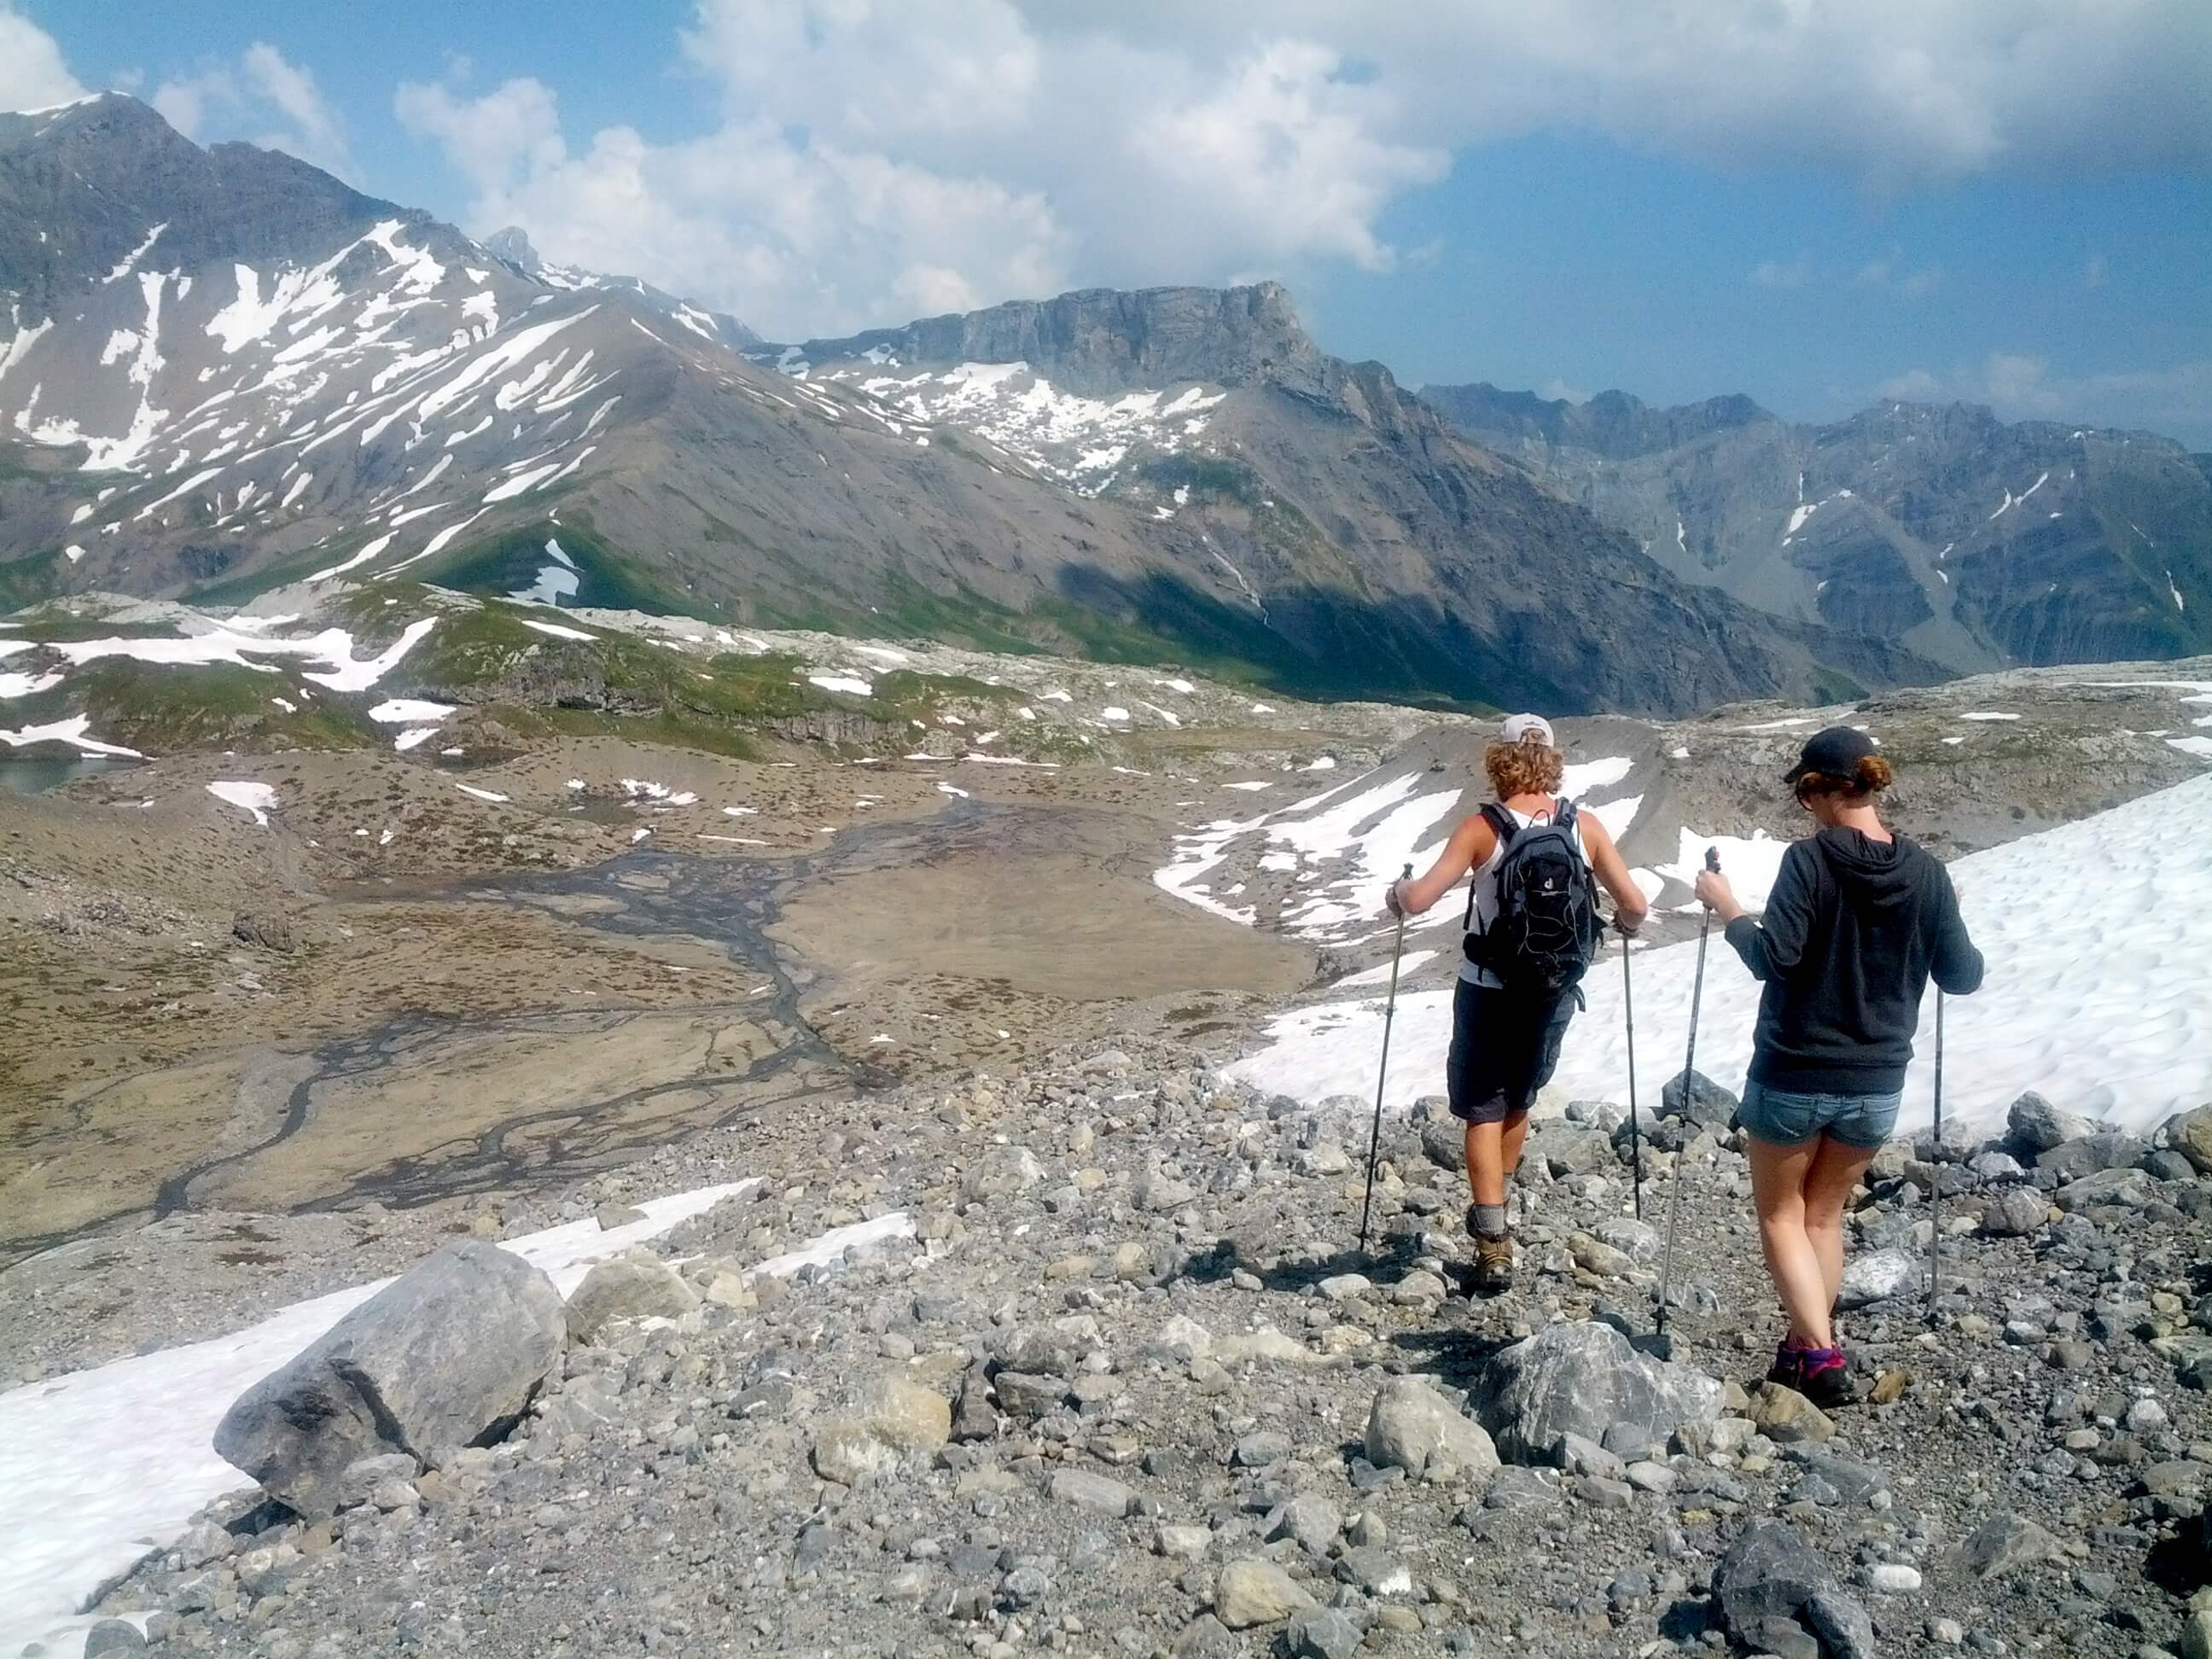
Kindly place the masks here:
<instances>
[{"instance_id":1,"label":"snow-streaked mountain ridge from left edge through the flat-topped cliff peak","mask_svg":"<svg viewBox=\"0 0 2212 1659\"><path fill-rule=\"evenodd\" d=\"M1936 672L1677 582L1274 285L759 347L493 243L131 97L0 117L0 604L507 593L557 540L580 604L1327 695L1681 710Z\"/></svg>"}]
</instances>

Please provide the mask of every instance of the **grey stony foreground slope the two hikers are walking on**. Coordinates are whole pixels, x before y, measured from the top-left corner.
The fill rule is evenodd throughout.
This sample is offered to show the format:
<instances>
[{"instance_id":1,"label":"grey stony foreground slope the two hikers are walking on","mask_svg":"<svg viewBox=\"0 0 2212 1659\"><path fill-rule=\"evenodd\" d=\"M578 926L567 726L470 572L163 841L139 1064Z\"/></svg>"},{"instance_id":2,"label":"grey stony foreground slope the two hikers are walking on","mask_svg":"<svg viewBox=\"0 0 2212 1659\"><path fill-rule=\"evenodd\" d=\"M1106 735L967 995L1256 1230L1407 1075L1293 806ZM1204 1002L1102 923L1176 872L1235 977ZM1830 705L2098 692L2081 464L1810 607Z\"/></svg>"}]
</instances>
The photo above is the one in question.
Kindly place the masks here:
<instances>
[{"instance_id":1,"label":"grey stony foreground slope the two hikers are walking on","mask_svg":"<svg viewBox=\"0 0 2212 1659\"><path fill-rule=\"evenodd\" d=\"M217 1504L88 1650L2205 1655L2212 1110L2143 1144L2028 1097L1887 1150L1845 1290L1871 1398L1827 1416L1759 1383L1730 1104L1646 1148L1655 1219L1686 1148L1670 1365L1621 1336L1659 1234L1604 1102L1531 1139L1520 1283L1475 1303L1449 1124L1387 1133L1360 1252L1360 1104L1172 1046L717 1130L566 1194L772 1175L597 1267L564 1352L440 1345L551 1369L511 1436L257 1464L296 1509Z\"/></svg>"}]
</instances>

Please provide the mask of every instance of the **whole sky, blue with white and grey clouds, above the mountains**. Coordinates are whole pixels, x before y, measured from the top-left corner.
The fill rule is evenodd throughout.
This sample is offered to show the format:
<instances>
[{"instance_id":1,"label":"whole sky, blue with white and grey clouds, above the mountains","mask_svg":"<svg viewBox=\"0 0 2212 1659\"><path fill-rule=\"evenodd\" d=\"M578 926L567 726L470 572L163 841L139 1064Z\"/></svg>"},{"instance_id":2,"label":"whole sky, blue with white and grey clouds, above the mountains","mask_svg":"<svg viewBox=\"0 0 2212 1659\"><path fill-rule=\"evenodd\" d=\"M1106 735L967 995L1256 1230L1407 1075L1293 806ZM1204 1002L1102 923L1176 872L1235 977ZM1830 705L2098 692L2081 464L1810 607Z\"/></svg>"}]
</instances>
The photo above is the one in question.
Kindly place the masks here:
<instances>
[{"instance_id":1,"label":"whole sky, blue with white and grey clouds, above the mountains","mask_svg":"<svg viewBox=\"0 0 2212 1659\"><path fill-rule=\"evenodd\" d=\"M1794 418L1958 396L2212 449L2199 0L1250 18L0 0L55 73L204 142L520 221L774 336L1265 274L1407 383L1750 392ZM22 97L4 69L0 91Z\"/></svg>"}]
</instances>

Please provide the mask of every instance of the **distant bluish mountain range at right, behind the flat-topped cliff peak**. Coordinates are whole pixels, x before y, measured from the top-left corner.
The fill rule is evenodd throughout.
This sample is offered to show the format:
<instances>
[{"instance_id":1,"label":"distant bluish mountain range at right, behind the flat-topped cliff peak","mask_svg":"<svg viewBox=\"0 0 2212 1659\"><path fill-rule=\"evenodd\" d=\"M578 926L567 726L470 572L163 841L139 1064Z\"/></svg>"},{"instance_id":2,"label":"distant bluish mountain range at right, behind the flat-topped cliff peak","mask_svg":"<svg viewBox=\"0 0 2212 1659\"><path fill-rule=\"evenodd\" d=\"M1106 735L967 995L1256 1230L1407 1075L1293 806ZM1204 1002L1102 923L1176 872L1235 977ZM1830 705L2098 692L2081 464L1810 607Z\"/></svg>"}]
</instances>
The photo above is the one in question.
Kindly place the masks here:
<instances>
[{"instance_id":1,"label":"distant bluish mountain range at right, behind the flat-topped cliff peak","mask_svg":"<svg viewBox=\"0 0 2212 1659\"><path fill-rule=\"evenodd\" d=\"M1743 396L1655 409L1425 387L1668 571L1960 672L2212 646L2212 480L2181 445L1882 403L1792 425Z\"/></svg>"}]
</instances>

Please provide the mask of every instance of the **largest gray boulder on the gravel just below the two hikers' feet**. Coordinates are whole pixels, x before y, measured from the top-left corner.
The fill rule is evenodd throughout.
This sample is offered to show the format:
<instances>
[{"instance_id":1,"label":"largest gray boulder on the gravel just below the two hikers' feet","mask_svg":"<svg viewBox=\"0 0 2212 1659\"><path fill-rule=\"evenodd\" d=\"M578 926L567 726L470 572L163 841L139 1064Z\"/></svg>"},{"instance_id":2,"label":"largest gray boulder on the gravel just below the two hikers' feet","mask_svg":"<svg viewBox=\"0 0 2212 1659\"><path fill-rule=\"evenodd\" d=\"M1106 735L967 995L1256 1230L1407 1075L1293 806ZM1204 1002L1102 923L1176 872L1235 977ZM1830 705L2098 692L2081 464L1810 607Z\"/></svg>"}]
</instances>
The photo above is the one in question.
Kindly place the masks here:
<instances>
[{"instance_id":1,"label":"largest gray boulder on the gravel just below the two hikers' feet","mask_svg":"<svg viewBox=\"0 0 2212 1659\"><path fill-rule=\"evenodd\" d=\"M1544 1462L1559 1436L1604 1440L1632 1422L1666 1440L1686 1422L1721 1416L1719 1378L1637 1354L1610 1325L1546 1325L1491 1358L1469 1411L1506 1462Z\"/></svg>"}]
</instances>

